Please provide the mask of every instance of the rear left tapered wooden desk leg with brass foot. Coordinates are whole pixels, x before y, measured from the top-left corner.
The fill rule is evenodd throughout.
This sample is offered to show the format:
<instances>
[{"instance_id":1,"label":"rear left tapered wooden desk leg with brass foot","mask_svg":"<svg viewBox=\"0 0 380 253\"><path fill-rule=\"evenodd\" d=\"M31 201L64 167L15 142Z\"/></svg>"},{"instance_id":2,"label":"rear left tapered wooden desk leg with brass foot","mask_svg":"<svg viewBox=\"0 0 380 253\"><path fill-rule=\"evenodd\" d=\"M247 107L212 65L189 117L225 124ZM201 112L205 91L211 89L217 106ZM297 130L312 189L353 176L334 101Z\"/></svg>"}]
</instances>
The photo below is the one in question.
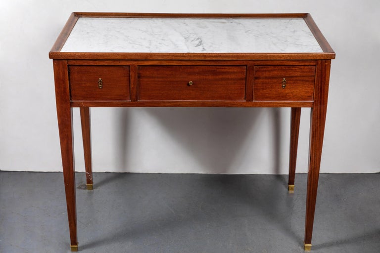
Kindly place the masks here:
<instances>
[{"instance_id":1,"label":"rear left tapered wooden desk leg with brass foot","mask_svg":"<svg viewBox=\"0 0 380 253\"><path fill-rule=\"evenodd\" d=\"M91 163L91 123L90 123L90 108L80 107L81 124L82 124L82 138L83 138L83 151L85 154L85 167L86 167L86 186L87 190L92 190L93 183L93 169Z\"/></svg>"}]
</instances>

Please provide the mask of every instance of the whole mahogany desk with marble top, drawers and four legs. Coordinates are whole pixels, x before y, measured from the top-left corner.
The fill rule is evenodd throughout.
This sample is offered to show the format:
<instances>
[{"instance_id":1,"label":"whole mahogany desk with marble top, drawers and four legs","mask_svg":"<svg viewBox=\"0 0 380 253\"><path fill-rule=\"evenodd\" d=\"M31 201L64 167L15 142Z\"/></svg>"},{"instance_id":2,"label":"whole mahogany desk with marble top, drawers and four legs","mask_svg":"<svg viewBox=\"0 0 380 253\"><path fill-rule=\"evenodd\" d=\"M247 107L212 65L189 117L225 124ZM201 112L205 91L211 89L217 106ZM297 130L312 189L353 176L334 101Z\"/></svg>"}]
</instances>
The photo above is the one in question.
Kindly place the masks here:
<instances>
[{"instance_id":1,"label":"whole mahogany desk with marble top, drawers and four legs","mask_svg":"<svg viewBox=\"0 0 380 253\"><path fill-rule=\"evenodd\" d=\"M290 107L293 191L301 107L311 108L304 249L311 249L331 59L309 14L73 13L52 47L70 228L78 250L72 107L92 189L90 107Z\"/></svg>"}]
</instances>

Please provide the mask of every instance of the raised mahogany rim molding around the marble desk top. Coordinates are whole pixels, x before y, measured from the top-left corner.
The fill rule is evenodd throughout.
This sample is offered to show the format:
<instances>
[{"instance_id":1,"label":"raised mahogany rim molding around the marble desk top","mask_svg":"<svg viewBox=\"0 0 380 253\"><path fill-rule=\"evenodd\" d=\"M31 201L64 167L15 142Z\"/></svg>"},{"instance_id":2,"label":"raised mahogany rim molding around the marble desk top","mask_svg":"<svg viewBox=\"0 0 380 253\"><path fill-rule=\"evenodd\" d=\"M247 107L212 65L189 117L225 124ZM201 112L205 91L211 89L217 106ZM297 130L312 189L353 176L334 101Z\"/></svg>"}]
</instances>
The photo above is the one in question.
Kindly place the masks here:
<instances>
[{"instance_id":1,"label":"raised mahogany rim molding around the marble desk top","mask_svg":"<svg viewBox=\"0 0 380 253\"><path fill-rule=\"evenodd\" d=\"M81 17L105 18L303 18L323 52L317 53L128 53L128 52L61 52L72 29ZM323 36L309 13L274 14L194 14L194 13L115 13L115 12L72 12L56 42L49 52L50 59L67 60L330 60L335 52Z\"/></svg>"}]
</instances>

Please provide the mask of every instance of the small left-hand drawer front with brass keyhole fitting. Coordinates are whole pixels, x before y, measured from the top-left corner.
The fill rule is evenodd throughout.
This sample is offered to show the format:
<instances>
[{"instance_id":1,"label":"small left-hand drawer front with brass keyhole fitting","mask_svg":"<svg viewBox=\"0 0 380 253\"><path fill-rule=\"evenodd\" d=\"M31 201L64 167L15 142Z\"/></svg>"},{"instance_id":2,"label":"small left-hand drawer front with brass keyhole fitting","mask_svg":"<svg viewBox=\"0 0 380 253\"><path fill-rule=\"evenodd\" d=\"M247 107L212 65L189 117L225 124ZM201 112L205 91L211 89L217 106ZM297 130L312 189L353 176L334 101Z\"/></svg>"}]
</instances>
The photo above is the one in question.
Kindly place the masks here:
<instances>
[{"instance_id":1,"label":"small left-hand drawer front with brass keyhole fitting","mask_svg":"<svg viewBox=\"0 0 380 253\"><path fill-rule=\"evenodd\" d=\"M69 80L72 101L130 100L128 66L69 66Z\"/></svg>"}]
</instances>

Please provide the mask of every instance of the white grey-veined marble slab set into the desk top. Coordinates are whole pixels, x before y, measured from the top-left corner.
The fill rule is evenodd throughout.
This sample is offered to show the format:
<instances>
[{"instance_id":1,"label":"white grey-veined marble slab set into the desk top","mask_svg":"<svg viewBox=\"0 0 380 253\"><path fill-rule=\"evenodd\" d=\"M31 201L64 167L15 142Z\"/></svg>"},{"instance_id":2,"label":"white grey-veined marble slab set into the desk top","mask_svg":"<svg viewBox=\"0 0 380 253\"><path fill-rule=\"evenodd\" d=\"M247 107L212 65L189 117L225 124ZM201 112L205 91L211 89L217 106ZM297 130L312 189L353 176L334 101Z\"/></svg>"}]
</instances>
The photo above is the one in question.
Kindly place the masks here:
<instances>
[{"instance_id":1,"label":"white grey-veined marble slab set into the desk top","mask_svg":"<svg viewBox=\"0 0 380 253\"><path fill-rule=\"evenodd\" d=\"M79 18L61 52L323 52L302 18Z\"/></svg>"}]
</instances>

